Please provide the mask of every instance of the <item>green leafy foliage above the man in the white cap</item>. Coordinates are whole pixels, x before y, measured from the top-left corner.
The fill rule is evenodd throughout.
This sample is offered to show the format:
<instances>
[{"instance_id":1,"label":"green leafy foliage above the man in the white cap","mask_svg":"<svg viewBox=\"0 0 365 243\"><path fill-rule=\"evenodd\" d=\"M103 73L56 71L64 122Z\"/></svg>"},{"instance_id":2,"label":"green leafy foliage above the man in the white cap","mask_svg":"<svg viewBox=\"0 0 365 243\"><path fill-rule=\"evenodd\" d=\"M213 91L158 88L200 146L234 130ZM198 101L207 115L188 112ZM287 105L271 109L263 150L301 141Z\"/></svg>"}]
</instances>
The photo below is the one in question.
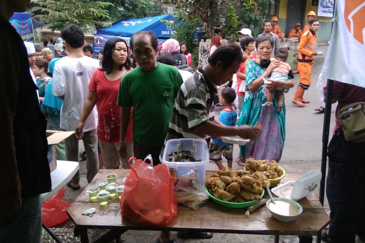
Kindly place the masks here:
<instances>
[{"instance_id":1,"label":"green leafy foliage above the man in the white cap","mask_svg":"<svg viewBox=\"0 0 365 243\"><path fill-rule=\"evenodd\" d=\"M242 11L239 14L241 27L254 30L261 27L265 21L265 14L269 11L269 4L274 4L273 0L240 0Z\"/></svg>"}]
</instances>

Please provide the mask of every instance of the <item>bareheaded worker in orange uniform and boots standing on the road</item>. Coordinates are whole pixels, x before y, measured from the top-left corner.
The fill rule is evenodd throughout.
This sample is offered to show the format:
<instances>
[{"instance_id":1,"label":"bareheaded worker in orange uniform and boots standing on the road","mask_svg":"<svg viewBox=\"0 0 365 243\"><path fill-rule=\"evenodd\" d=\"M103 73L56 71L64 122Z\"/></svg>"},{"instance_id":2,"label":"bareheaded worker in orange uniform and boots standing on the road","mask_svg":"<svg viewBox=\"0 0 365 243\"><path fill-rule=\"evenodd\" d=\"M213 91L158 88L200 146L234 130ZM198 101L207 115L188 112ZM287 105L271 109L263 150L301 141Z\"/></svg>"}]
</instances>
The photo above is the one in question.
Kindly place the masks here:
<instances>
[{"instance_id":1,"label":"bareheaded worker in orange uniform and boots standing on the road","mask_svg":"<svg viewBox=\"0 0 365 243\"><path fill-rule=\"evenodd\" d=\"M318 55L318 53L314 51L319 28L318 19L312 19L309 22L309 25L311 27L310 30L304 32L304 34L300 37L298 45L298 70L300 74L300 81L295 91L293 103L300 107L303 107L304 104L310 102L303 99L303 95L304 91L306 91L311 85L313 58Z\"/></svg>"}]
</instances>

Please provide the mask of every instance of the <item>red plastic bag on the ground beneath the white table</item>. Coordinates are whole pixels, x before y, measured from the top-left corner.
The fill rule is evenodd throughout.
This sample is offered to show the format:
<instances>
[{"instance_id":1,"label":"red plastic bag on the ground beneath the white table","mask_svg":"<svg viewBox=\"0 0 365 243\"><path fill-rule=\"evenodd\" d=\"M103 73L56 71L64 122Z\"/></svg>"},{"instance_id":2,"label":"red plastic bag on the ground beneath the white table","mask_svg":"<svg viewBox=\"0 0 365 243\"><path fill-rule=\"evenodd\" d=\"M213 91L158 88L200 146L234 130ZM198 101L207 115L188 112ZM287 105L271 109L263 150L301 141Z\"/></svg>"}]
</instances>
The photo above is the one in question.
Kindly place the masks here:
<instances>
[{"instance_id":1,"label":"red plastic bag on the ground beneath the white table","mask_svg":"<svg viewBox=\"0 0 365 243\"><path fill-rule=\"evenodd\" d=\"M69 219L66 211L70 203L62 201L65 195L65 187L62 187L55 195L42 203L42 222L47 227L55 226Z\"/></svg>"}]
</instances>

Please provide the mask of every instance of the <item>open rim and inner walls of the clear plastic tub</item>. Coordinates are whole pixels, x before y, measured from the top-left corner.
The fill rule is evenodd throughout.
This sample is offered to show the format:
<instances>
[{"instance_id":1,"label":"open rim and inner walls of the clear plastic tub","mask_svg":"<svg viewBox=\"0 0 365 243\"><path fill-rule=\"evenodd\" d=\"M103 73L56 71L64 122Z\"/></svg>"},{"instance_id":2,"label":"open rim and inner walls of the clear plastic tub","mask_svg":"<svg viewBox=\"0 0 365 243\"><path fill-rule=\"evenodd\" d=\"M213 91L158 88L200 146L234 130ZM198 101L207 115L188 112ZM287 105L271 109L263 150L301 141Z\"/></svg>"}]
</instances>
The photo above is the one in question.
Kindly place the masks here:
<instances>
[{"instance_id":1,"label":"open rim and inner walls of the clear plastic tub","mask_svg":"<svg viewBox=\"0 0 365 243\"><path fill-rule=\"evenodd\" d=\"M201 160L201 162L169 162L169 154L175 151L190 150L191 155L196 160ZM164 153L162 155L162 164L166 165L206 165L209 163L209 153L207 141L204 139L197 138L180 138L180 139L170 139L166 142Z\"/></svg>"}]
</instances>

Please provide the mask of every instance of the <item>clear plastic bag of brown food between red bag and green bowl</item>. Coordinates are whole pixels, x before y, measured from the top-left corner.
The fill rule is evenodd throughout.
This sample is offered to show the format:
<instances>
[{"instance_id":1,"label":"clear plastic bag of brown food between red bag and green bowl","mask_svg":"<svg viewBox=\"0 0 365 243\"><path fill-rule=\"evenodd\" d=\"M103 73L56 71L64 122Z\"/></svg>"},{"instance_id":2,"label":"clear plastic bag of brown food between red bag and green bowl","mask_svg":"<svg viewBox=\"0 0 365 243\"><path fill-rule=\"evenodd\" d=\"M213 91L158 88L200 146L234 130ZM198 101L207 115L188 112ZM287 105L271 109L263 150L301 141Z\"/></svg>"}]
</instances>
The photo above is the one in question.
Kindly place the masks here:
<instances>
[{"instance_id":1,"label":"clear plastic bag of brown food between red bag and green bowl","mask_svg":"<svg viewBox=\"0 0 365 243\"><path fill-rule=\"evenodd\" d=\"M196 180L189 180L189 177L195 177L195 173L195 171L191 170L185 175L180 176L174 189L177 201L192 209L199 208L210 198L205 191L204 185Z\"/></svg>"}]
</instances>

